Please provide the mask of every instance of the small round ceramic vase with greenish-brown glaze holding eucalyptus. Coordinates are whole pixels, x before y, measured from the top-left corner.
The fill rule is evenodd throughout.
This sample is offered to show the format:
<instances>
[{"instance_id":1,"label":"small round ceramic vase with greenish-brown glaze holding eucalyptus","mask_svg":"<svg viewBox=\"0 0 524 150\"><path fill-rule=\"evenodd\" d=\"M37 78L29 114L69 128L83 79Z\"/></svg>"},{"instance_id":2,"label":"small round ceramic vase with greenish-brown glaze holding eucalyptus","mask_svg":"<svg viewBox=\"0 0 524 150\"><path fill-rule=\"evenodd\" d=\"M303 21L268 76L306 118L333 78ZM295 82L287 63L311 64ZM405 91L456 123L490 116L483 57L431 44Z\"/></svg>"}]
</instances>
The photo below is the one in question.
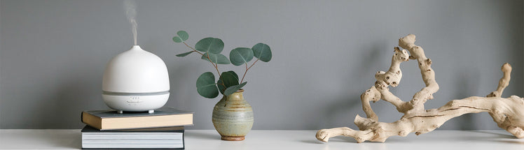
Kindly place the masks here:
<instances>
[{"instance_id":1,"label":"small round ceramic vase with greenish-brown glaze holding eucalyptus","mask_svg":"<svg viewBox=\"0 0 524 150\"><path fill-rule=\"evenodd\" d=\"M253 126L253 109L244 100L243 89L216 103L213 109L213 125L222 140L242 141Z\"/></svg>"}]
</instances>

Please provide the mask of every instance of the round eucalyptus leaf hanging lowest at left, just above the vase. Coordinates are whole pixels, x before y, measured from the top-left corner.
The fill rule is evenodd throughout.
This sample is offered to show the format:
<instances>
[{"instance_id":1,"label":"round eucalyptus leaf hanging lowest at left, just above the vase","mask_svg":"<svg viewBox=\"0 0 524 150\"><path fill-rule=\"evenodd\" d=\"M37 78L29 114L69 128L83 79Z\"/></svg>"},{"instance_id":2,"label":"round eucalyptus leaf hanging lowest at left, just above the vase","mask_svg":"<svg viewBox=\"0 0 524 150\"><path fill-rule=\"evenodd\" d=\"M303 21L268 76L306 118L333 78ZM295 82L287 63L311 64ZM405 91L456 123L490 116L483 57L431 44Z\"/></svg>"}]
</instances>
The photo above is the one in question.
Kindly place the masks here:
<instances>
[{"instance_id":1,"label":"round eucalyptus leaf hanging lowest at left, just above the vase","mask_svg":"<svg viewBox=\"0 0 524 150\"><path fill-rule=\"evenodd\" d=\"M202 73L198 77L196 85L200 96L205 98L216 98L216 96L219 96L219 89L216 88L214 75L211 72Z\"/></svg>"}]
</instances>

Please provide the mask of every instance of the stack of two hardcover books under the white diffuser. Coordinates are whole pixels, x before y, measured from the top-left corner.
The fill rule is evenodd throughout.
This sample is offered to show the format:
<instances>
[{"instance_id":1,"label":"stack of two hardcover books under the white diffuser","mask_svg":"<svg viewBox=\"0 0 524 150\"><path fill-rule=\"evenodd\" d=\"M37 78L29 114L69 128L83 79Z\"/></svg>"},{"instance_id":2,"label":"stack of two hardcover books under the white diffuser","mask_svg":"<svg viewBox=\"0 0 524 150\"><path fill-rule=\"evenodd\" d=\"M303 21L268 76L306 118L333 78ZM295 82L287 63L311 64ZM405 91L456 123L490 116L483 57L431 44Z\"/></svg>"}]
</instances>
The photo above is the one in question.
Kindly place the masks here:
<instances>
[{"instance_id":1,"label":"stack of two hardcover books under the white diffuser","mask_svg":"<svg viewBox=\"0 0 524 150\"><path fill-rule=\"evenodd\" d=\"M148 112L82 112L82 149L184 149L184 126L193 112L163 107Z\"/></svg>"}]
</instances>

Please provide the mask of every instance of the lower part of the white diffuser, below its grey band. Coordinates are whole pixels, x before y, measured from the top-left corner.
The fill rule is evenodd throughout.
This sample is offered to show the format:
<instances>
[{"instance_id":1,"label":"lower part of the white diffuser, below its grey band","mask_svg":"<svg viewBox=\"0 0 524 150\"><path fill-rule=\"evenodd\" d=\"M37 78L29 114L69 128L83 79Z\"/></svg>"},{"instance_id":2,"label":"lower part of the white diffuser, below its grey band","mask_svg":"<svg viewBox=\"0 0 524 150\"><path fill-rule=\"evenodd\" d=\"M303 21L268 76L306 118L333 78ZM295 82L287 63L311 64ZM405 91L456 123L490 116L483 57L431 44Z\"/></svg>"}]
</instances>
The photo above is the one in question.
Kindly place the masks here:
<instances>
[{"instance_id":1,"label":"lower part of the white diffuser, below its grey band","mask_svg":"<svg viewBox=\"0 0 524 150\"><path fill-rule=\"evenodd\" d=\"M122 112L149 112L163 107L169 99L170 93L168 91L161 93L127 93L127 94L113 94L102 93L102 99L107 106L118 113Z\"/></svg>"}]
</instances>

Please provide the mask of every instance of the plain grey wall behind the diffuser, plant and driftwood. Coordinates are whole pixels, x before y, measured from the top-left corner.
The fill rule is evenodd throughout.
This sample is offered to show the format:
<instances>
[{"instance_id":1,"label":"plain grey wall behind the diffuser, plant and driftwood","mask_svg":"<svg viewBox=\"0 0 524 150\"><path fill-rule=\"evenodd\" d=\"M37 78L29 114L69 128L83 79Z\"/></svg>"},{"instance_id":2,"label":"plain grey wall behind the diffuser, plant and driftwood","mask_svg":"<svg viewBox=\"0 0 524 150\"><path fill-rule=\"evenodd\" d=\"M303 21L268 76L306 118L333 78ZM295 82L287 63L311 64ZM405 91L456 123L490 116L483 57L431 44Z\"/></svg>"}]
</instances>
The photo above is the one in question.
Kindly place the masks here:
<instances>
[{"instance_id":1,"label":"plain grey wall behind the diffuser, plant and driftwood","mask_svg":"<svg viewBox=\"0 0 524 150\"><path fill-rule=\"evenodd\" d=\"M195 80L212 71L173 43L178 30L221 38L235 47L266 43L273 60L247 74L244 96L254 129L356 128L360 94L387 70L397 39L417 35L441 90L427 108L495 90L504 62L513 66L504 97L524 96L523 1L137 1L138 43L170 71L167 106L195 112L192 129L212 129L219 98L198 95ZM104 67L132 45L123 1L0 2L0 128L81 128L80 112L104 110ZM424 84L415 61L392 92L409 100ZM220 66L222 71L242 67ZM372 104L380 121L401 114ZM441 129L497 129L487 113L468 114Z\"/></svg>"}]
</instances>

